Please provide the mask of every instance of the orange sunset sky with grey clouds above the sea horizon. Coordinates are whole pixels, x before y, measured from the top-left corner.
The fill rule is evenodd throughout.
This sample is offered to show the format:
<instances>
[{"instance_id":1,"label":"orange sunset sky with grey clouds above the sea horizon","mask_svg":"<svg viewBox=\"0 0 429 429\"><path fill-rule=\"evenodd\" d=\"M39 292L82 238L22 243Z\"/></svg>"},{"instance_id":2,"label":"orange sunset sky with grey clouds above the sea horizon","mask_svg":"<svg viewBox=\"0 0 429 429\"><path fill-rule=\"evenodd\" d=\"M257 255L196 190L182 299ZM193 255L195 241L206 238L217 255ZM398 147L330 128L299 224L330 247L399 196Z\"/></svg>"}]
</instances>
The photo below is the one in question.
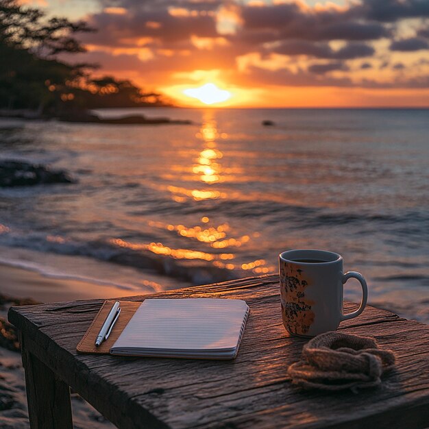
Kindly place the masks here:
<instances>
[{"instance_id":1,"label":"orange sunset sky with grey clouds above the sea horizon","mask_svg":"<svg viewBox=\"0 0 429 429\"><path fill-rule=\"evenodd\" d=\"M98 29L73 61L181 106L206 84L231 94L214 106L429 106L428 0L23 3Z\"/></svg>"}]
</instances>

